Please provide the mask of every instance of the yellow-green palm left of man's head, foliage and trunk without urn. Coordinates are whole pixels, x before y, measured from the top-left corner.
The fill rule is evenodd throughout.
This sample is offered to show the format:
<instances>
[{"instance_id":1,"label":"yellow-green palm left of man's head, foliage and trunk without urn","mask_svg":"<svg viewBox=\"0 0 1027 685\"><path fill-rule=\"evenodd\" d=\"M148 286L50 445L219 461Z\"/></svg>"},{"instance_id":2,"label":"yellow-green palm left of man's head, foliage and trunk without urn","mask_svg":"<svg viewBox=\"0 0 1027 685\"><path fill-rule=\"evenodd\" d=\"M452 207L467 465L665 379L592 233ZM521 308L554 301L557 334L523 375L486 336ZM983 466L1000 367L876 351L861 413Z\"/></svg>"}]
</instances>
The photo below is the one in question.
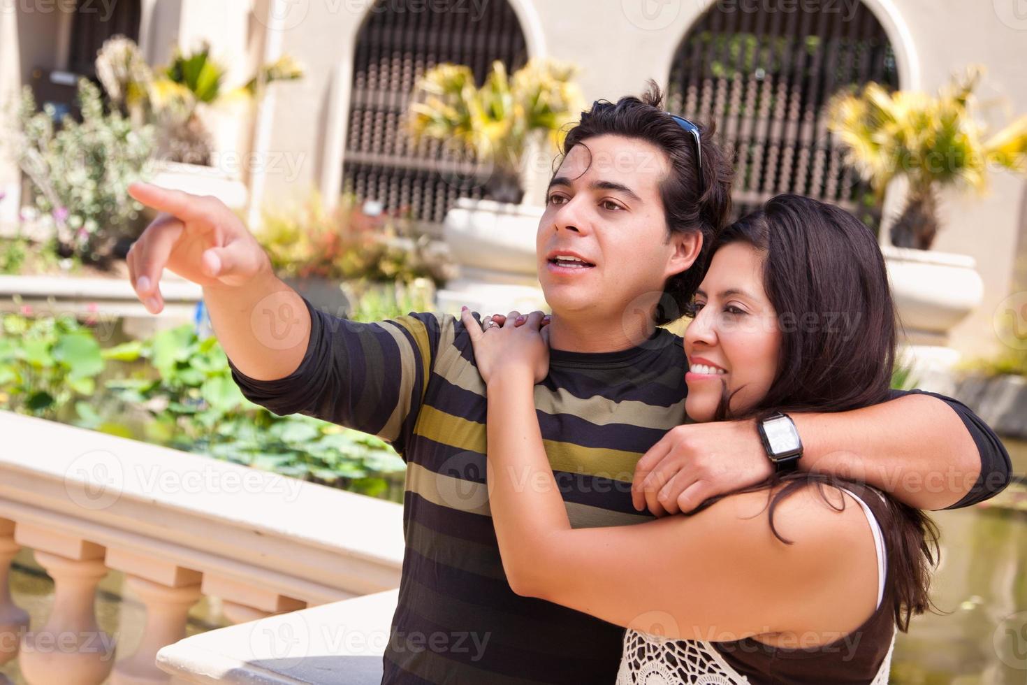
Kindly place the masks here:
<instances>
[{"instance_id":1,"label":"yellow-green palm left of man's head, foliage and trunk without urn","mask_svg":"<svg viewBox=\"0 0 1027 685\"><path fill-rule=\"evenodd\" d=\"M581 110L576 74L570 65L532 60L510 77L497 61L479 88L470 68L439 65L414 86L407 132L415 145L440 141L450 152L491 164L491 196L519 202L519 169L529 147L545 136L556 146L561 127Z\"/></svg>"}]
</instances>

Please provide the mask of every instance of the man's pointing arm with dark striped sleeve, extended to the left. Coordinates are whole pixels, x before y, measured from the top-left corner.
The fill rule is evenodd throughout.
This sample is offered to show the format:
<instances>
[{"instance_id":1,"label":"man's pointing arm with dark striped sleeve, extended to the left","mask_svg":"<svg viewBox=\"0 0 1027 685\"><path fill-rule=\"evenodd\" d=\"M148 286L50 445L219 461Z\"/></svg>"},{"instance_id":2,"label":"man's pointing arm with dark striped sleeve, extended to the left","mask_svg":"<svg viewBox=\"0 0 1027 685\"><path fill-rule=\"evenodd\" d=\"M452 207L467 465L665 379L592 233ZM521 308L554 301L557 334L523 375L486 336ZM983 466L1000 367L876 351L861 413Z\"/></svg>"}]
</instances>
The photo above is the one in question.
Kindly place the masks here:
<instances>
[{"instance_id":1,"label":"man's pointing arm with dark striped sleeve, extended to the left","mask_svg":"<svg viewBox=\"0 0 1027 685\"><path fill-rule=\"evenodd\" d=\"M440 340L440 318L350 321L313 308L224 203L146 184L130 192L162 214L128 254L147 308L162 308L163 269L203 287L232 378L278 415L305 414L374 433L403 451Z\"/></svg>"}]
</instances>

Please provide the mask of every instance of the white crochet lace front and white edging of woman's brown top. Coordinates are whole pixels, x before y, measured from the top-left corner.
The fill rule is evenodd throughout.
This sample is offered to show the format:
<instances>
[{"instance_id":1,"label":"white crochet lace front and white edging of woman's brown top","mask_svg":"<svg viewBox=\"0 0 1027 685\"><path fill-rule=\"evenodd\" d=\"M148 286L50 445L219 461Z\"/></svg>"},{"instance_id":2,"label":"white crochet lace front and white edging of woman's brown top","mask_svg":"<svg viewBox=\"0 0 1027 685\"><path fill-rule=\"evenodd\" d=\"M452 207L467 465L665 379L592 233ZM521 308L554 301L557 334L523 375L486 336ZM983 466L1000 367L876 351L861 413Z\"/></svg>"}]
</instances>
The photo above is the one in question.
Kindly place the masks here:
<instances>
[{"instance_id":1,"label":"white crochet lace front and white edging of woman's brown top","mask_svg":"<svg viewBox=\"0 0 1027 685\"><path fill-rule=\"evenodd\" d=\"M860 503L877 549L877 608L884 597L884 576L886 553L884 540L877 519L870 507L851 492L845 491ZM895 650L895 634L891 646L870 685L886 685L891 668L891 653ZM624 650L620 658L616 685L743 685L750 681L714 648L701 640L669 640L647 633L627 631L624 635Z\"/></svg>"}]
</instances>

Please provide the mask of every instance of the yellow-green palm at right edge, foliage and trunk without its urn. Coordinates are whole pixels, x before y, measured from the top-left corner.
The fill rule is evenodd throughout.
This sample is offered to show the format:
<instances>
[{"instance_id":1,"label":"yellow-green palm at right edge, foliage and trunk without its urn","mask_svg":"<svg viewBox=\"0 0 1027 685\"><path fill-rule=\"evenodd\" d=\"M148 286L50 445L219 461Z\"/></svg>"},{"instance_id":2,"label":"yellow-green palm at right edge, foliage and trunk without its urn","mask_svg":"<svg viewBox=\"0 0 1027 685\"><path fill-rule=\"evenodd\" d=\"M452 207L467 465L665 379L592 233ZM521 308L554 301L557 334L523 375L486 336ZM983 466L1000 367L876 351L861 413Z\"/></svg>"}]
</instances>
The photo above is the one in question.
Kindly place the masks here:
<instances>
[{"instance_id":1,"label":"yellow-green palm at right edge, foliage and trunk without its urn","mask_svg":"<svg viewBox=\"0 0 1027 685\"><path fill-rule=\"evenodd\" d=\"M829 105L829 127L879 200L897 177L909 181L905 207L891 228L892 244L930 249L942 187L961 184L983 192L989 170L1027 172L1027 116L990 136L975 118L974 89L982 74L971 68L937 97L889 92L870 83Z\"/></svg>"}]
</instances>

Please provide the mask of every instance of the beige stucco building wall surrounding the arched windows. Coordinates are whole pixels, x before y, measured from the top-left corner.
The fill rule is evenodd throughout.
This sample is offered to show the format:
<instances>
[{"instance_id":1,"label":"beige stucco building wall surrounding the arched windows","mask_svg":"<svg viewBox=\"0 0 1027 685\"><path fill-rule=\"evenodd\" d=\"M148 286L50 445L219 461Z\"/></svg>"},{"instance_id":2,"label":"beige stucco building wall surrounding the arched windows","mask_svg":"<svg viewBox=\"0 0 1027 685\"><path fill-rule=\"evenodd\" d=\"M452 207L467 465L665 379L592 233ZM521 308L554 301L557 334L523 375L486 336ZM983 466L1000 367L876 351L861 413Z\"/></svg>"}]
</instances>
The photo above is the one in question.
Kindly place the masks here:
<instances>
[{"instance_id":1,"label":"beige stucco building wall surrounding the arched windows","mask_svg":"<svg viewBox=\"0 0 1027 685\"><path fill-rule=\"evenodd\" d=\"M478 4L482 1L477 0ZM649 77L665 83L676 46L711 1L509 0L521 18L530 53L578 64L579 82L588 102L637 92ZM795 0L794 4L812 1ZM853 1L834 0L831 5L846 11ZM953 71L983 63L989 74L982 94L1000 103L993 110L999 119L1007 113L1027 112L1023 69L1027 16L1016 12L1017 2L866 0L897 48L903 87L933 90ZM254 154L242 168L254 195L252 219L262 204L298 201L312 189L332 197L340 188L351 61L371 3L144 0L141 43L151 62L166 61L176 44L192 47L206 38L219 54L228 58L233 81L241 81L256 64L282 52L295 55L306 67L303 80L270 89L253 128L249 122L219 127L223 149L244 151L254 141ZM758 4L758 0L748 3ZM476 0L467 0L464 6L472 10ZM13 33L21 36L18 49L3 39ZM29 45L26 36L32 36ZM59 42L52 16L0 12L0 93L16 90L30 58L55 60ZM16 174L9 162L0 160L0 184L5 183L16 183ZM10 212L9 202L0 205L0 218L5 211ZM946 229L937 248L975 257L985 281L984 304L956 329L953 344L974 355L994 352L998 344L991 326L995 307L1014 290L1027 289L1027 267L1015 275L1018 251L1021 263L1027 261L1027 183L997 174L990 195L946 193L943 212Z\"/></svg>"}]
</instances>

